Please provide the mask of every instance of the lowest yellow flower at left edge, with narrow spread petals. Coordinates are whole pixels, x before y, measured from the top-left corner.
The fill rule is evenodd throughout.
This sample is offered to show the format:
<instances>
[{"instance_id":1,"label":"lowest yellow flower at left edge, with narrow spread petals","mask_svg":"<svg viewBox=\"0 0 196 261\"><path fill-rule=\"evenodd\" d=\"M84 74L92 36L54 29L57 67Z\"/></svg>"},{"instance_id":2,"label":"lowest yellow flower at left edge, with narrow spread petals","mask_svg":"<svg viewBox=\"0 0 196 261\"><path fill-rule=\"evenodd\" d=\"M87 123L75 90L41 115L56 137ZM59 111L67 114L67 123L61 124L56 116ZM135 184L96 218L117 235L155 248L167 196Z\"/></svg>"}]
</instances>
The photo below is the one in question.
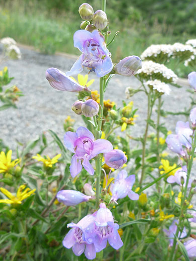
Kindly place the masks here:
<instances>
[{"instance_id":1,"label":"lowest yellow flower at left edge, with narrow spread petals","mask_svg":"<svg viewBox=\"0 0 196 261\"><path fill-rule=\"evenodd\" d=\"M36 191L36 189L33 189L33 190L31 190L30 188L25 189L25 187L26 187L26 185L21 185L17 191L16 196L14 196L7 189L0 188L1 192L4 193L9 198L9 199L0 199L0 203L21 204L22 200L30 197Z\"/></svg>"}]
</instances>

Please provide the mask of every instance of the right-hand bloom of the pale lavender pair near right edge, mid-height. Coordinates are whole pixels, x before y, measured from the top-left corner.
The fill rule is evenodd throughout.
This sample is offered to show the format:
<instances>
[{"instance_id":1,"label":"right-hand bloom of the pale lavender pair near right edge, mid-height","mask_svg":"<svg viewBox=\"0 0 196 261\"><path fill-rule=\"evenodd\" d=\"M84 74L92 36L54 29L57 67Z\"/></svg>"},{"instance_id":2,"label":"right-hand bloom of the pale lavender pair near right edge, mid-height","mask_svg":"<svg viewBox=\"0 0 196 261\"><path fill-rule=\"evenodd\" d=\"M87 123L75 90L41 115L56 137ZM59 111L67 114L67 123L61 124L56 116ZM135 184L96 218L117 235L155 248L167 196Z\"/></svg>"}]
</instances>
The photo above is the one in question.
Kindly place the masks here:
<instances>
[{"instance_id":1,"label":"right-hand bloom of the pale lavender pair near right edge, mid-height","mask_svg":"<svg viewBox=\"0 0 196 261\"><path fill-rule=\"evenodd\" d=\"M189 122L177 121L175 132L178 136L179 143L187 149L191 148L192 129L189 127Z\"/></svg>"}]
</instances>

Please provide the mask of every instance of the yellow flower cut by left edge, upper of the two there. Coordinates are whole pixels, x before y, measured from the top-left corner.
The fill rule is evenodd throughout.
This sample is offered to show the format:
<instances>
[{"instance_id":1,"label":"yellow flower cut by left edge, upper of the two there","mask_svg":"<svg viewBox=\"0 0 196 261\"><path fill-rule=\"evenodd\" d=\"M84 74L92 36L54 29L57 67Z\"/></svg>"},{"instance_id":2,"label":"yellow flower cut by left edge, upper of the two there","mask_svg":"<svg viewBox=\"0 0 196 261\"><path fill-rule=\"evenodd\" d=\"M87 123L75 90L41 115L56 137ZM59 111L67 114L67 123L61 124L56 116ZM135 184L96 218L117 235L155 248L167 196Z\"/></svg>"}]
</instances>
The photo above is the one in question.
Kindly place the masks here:
<instances>
[{"instance_id":1,"label":"yellow flower cut by left edge, upper of the two there","mask_svg":"<svg viewBox=\"0 0 196 261\"><path fill-rule=\"evenodd\" d=\"M0 154L0 173L8 172L10 169L14 168L19 164L20 159L12 161L12 150L8 151L7 155L5 152Z\"/></svg>"}]
</instances>

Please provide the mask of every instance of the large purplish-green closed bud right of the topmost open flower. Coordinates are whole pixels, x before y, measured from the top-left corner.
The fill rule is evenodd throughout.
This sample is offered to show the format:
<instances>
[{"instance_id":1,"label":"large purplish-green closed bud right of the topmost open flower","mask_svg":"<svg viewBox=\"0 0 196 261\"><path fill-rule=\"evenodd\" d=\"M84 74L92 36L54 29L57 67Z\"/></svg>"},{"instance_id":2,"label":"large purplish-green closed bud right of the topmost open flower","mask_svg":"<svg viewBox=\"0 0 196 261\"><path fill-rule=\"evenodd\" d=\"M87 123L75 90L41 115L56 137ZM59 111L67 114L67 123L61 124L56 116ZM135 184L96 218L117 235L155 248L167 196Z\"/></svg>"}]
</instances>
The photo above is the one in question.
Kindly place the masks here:
<instances>
[{"instance_id":1,"label":"large purplish-green closed bud right of the topmost open flower","mask_svg":"<svg viewBox=\"0 0 196 261\"><path fill-rule=\"evenodd\" d=\"M132 55L125 57L117 65L115 65L114 70L117 74L123 76L134 76L136 72L142 68L142 61L140 57Z\"/></svg>"}]
</instances>

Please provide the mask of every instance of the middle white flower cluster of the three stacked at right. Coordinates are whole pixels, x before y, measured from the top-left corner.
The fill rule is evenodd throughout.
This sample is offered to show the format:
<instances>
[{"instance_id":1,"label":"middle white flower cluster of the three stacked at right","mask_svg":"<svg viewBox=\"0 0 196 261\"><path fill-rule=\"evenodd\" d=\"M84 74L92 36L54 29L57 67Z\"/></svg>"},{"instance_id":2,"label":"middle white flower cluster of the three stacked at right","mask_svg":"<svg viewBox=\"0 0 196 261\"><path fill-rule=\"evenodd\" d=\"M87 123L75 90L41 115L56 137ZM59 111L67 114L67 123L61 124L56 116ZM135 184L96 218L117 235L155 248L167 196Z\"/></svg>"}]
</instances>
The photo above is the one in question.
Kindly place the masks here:
<instances>
[{"instance_id":1,"label":"middle white flower cluster of the three stacked at right","mask_svg":"<svg viewBox=\"0 0 196 261\"><path fill-rule=\"evenodd\" d=\"M163 64L152 61L142 62L142 69L138 70L136 75L145 80L159 79L166 83L176 83L178 79L177 75L171 69L168 69Z\"/></svg>"}]
</instances>

